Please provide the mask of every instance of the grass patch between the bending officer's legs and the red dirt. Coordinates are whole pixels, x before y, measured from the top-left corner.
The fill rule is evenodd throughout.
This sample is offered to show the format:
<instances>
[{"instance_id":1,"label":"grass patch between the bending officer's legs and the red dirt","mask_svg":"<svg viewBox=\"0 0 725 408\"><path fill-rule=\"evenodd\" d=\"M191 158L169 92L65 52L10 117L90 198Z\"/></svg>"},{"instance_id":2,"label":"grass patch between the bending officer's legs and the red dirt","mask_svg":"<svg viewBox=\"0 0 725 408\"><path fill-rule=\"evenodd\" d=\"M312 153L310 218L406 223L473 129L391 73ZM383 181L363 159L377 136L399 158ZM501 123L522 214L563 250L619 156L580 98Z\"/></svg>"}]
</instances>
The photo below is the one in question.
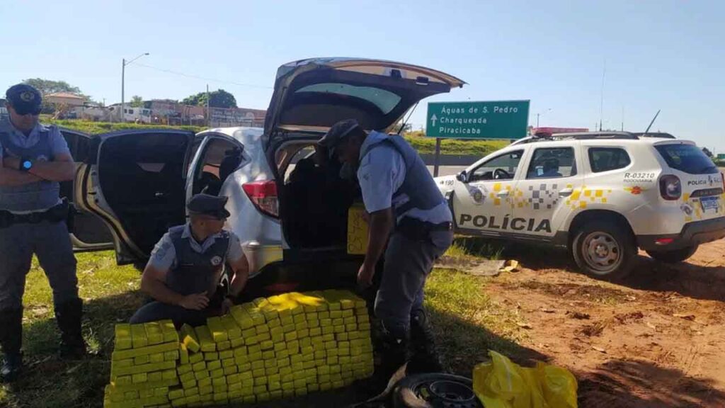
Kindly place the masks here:
<instances>
[{"instance_id":1,"label":"grass patch between the bending officer's legs and the red dirt","mask_svg":"<svg viewBox=\"0 0 725 408\"><path fill-rule=\"evenodd\" d=\"M492 301L485 286L484 278L444 269L434 269L426 282L436 345L446 368L458 375L471 377L489 349L518 360L531 357L517 344L523 338L518 312Z\"/></svg>"}]
</instances>

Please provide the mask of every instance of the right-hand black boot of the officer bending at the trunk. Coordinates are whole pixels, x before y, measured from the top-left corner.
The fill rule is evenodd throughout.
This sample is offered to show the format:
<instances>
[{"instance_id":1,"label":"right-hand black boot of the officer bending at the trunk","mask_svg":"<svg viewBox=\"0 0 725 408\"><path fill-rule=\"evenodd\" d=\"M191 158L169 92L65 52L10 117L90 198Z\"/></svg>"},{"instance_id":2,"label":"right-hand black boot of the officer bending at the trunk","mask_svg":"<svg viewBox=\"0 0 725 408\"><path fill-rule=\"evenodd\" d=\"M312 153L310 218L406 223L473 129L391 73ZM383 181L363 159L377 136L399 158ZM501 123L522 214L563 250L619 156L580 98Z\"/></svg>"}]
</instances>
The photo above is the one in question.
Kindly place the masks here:
<instances>
[{"instance_id":1,"label":"right-hand black boot of the officer bending at the trunk","mask_svg":"<svg viewBox=\"0 0 725 408\"><path fill-rule=\"evenodd\" d=\"M408 357L407 372L443 372L441 359L436 352L436 343L433 337L428 315L423 309L410 313L410 356Z\"/></svg>"}]
</instances>

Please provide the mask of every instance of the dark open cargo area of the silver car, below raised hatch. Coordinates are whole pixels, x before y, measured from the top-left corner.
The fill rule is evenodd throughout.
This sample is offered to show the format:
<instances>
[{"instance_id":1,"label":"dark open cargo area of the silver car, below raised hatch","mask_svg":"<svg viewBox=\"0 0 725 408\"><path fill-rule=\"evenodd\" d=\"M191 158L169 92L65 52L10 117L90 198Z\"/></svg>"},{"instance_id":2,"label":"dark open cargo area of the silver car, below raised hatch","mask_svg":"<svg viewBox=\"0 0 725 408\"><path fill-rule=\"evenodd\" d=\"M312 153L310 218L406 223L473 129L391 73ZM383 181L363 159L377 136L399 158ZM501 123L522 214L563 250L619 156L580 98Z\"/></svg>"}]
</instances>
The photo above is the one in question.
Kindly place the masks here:
<instances>
[{"instance_id":1,"label":"dark open cargo area of the silver car, below raised hatch","mask_svg":"<svg viewBox=\"0 0 725 408\"><path fill-rule=\"evenodd\" d=\"M320 158L315 140L276 149L282 231L290 248L346 253L347 211L359 199L355 180L339 176L336 160Z\"/></svg>"}]
</instances>

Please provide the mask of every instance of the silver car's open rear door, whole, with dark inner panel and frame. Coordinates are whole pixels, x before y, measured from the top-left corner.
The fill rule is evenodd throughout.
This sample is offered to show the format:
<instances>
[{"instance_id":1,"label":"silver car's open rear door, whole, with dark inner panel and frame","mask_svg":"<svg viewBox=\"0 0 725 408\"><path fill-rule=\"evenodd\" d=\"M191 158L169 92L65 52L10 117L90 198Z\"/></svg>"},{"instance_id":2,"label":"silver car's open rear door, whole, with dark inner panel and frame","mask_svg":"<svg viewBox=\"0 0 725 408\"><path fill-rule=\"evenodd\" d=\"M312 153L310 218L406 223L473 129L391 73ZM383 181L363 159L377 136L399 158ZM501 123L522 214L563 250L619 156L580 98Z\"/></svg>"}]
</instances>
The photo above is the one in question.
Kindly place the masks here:
<instances>
[{"instance_id":1,"label":"silver car's open rear door, whole, with dark inner panel and frame","mask_svg":"<svg viewBox=\"0 0 725 408\"><path fill-rule=\"evenodd\" d=\"M138 129L94 136L78 168L75 203L112 234L118 264L149 256L169 227L183 224L186 166L194 134Z\"/></svg>"}]
</instances>

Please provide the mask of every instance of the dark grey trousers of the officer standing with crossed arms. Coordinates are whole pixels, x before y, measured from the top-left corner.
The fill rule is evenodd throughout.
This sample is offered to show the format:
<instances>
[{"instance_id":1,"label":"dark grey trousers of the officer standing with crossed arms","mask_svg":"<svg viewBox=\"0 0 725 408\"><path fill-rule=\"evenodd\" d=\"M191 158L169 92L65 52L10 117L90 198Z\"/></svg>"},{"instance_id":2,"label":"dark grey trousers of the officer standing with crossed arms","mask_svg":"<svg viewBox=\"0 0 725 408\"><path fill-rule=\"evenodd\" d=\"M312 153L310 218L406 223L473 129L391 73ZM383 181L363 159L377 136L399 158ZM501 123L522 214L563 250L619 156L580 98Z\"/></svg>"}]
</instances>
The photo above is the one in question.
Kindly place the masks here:
<instances>
[{"instance_id":1,"label":"dark grey trousers of the officer standing with crossed arms","mask_svg":"<svg viewBox=\"0 0 725 408\"><path fill-rule=\"evenodd\" d=\"M55 306L78 298L76 261L65 222L13 224L0 229L0 310L22 307L33 253L48 277Z\"/></svg>"}]
</instances>

